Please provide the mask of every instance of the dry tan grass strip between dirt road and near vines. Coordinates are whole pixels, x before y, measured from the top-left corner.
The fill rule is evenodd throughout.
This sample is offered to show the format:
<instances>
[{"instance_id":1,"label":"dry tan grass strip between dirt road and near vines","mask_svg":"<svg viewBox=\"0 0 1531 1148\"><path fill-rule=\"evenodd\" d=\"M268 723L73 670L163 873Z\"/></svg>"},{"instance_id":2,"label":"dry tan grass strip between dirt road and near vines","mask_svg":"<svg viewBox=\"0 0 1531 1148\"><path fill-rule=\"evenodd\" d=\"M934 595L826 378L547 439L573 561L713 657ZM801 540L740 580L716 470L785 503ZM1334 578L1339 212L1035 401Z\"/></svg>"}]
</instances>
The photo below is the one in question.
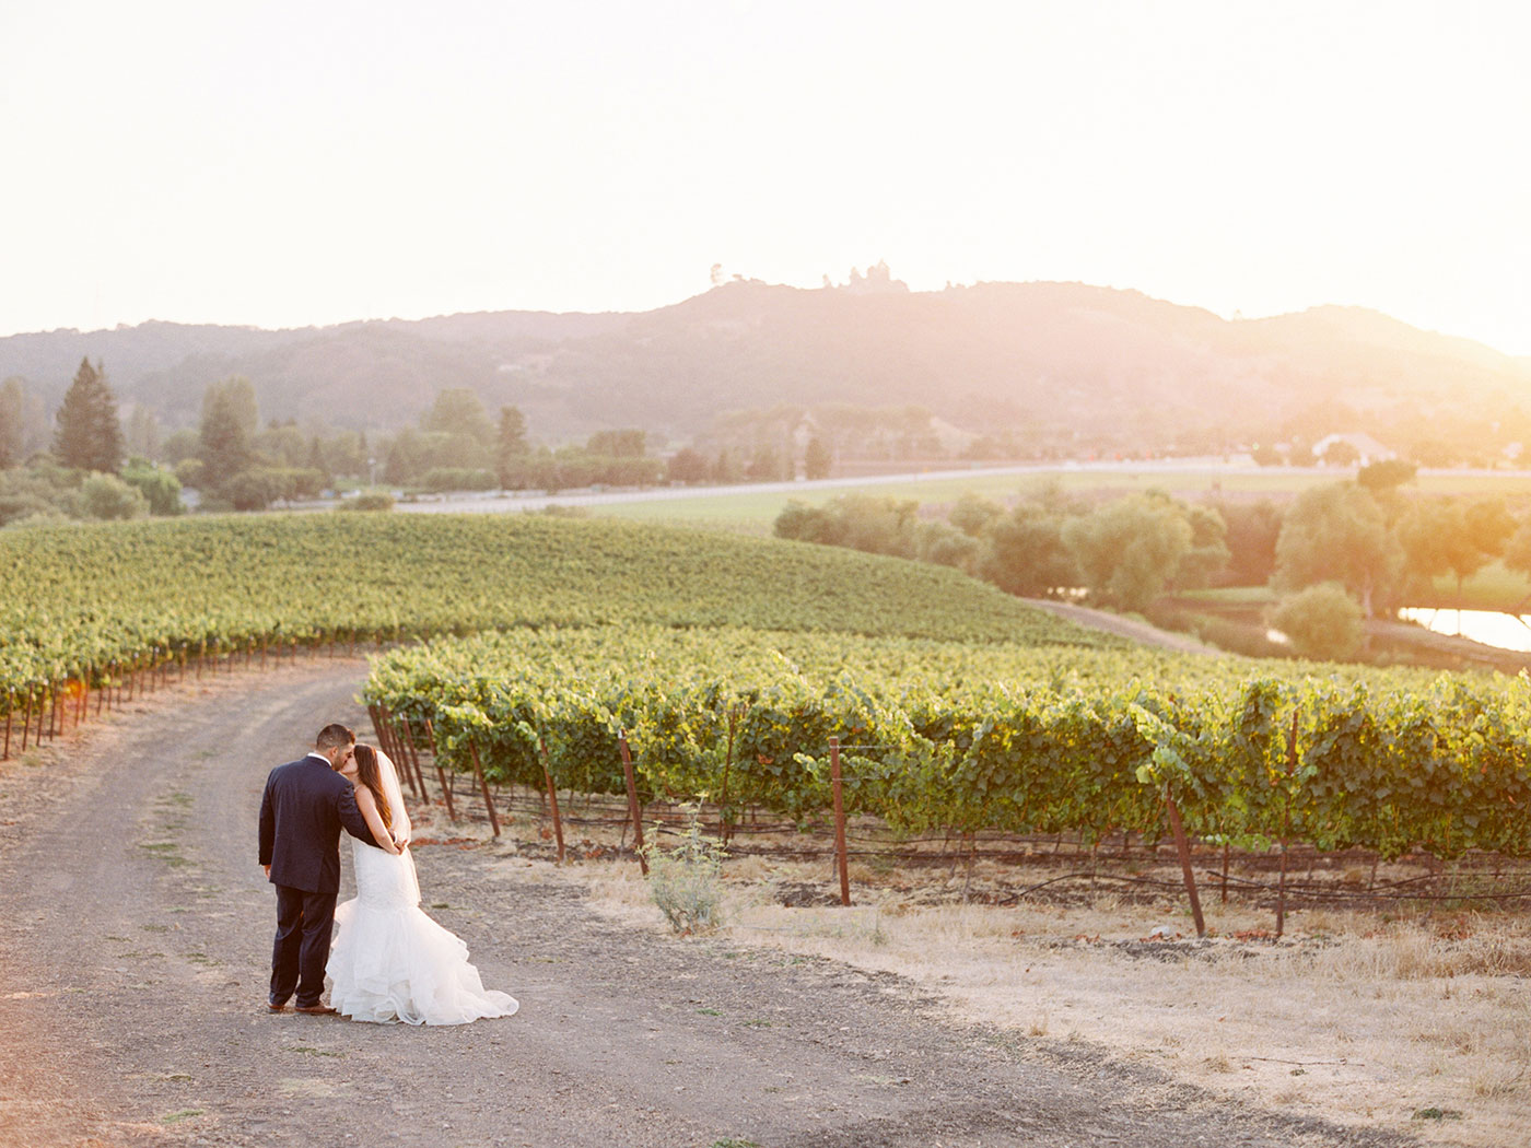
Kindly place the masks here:
<instances>
[{"instance_id":1,"label":"dry tan grass strip between dirt road and near vines","mask_svg":"<svg viewBox=\"0 0 1531 1148\"><path fill-rule=\"evenodd\" d=\"M635 866L574 866L599 909L660 926ZM1041 880L1043 876L1038 876ZM1084 1039L1176 1079L1266 1107L1393 1128L1435 1143L1531 1143L1531 921L1523 915L1386 920L1378 912L1288 917L1208 906L1205 946L1183 902L1098 895L1081 905L928 903L963 874L859 865L853 908L787 908L782 886L831 892L824 863L730 860L733 943L906 977L958 1021L1052 1041ZM1024 1049L1026 1045L1023 1045ZM1413 1119L1421 1110L1462 1119Z\"/></svg>"}]
</instances>

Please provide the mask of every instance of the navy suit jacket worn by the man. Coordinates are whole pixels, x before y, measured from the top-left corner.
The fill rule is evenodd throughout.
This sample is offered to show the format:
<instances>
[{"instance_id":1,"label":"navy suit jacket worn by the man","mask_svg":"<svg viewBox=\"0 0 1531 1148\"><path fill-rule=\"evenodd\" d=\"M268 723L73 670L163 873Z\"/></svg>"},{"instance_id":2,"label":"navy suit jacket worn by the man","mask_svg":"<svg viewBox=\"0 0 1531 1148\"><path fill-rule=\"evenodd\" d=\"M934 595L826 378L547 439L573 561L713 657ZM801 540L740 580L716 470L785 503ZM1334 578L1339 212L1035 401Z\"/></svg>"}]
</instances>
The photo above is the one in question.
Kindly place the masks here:
<instances>
[{"instance_id":1,"label":"navy suit jacket worn by the man","mask_svg":"<svg viewBox=\"0 0 1531 1148\"><path fill-rule=\"evenodd\" d=\"M277 765L260 797L260 863L271 882L340 892L340 830L377 846L351 782L311 753Z\"/></svg>"}]
</instances>

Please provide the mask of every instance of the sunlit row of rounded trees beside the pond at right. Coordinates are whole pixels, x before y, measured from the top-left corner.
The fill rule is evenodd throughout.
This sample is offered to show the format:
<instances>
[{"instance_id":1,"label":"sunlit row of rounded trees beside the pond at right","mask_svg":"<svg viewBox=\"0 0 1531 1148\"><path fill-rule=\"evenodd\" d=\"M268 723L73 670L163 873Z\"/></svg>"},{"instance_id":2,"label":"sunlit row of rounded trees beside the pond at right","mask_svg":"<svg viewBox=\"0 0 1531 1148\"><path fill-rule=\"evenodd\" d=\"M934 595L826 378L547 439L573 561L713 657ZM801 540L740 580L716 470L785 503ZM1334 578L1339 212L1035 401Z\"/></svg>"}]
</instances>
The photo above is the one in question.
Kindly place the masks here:
<instances>
[{"instance_id":1,"label":"sunlit row of rounded trees beside the pond at right","mask_svg":"<svg viewBox=\"0 0 1531 1148\"><path fill-rule=\"evenodd\" d=\"M1531 517L1503 497L1427 497L1401 488L1404 462L1364 467L1355 481L1312 487L1285 508L1187 504L1162 493L1110 502L1056 485L1014 505L965 494L945 513L912 501L847 494L822 507L793 501L779 537L957 566L1012 594L1075 595L1145 611L1165 592L1271 585L1271 621L1297 652L1349 657L1364 620L1392 615L1436 577L1462 580L1493 560L1531 574Z\"/></svg>"}]
</instances>

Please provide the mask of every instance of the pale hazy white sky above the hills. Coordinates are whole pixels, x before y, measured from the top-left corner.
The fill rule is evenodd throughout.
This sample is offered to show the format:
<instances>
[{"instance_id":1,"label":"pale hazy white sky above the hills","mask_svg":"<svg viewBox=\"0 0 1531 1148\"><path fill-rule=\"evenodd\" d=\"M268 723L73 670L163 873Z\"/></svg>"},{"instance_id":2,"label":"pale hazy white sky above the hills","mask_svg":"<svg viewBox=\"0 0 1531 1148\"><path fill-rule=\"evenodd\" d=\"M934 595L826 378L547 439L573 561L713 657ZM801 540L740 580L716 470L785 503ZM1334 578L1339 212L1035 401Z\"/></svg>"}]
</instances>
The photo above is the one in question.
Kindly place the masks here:
<instances>
[{"instance_id":1,"label":"pale hazy white sky above the hills","mask_svg":"<svg viewBox=\"0 0 1531 1148\"><path fill-rule=\"evenodd\" d=\"M0 334L709 268L1355 303L1531 354L1514 3L0 0Z\"/></svg>"}]
</instances>

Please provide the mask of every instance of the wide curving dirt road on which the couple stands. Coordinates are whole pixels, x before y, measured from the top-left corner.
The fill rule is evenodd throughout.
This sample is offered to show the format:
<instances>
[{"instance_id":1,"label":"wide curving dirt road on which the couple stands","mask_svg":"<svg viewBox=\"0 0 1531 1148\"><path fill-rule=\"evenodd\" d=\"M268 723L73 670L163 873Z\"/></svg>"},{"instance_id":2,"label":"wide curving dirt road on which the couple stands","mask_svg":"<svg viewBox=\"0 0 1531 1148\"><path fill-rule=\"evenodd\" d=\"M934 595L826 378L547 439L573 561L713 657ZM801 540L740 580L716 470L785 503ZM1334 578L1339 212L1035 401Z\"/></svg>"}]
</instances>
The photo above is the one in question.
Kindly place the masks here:
<instances>
[{"instance_id":1,"label":"wide curving dirt road on which the couple stands","mask_svg":"<svg viewBox=\"0 0 1531 1148\"><path fill-rule=\"evenodd\" d=\"M318 661L159 695L57 761L0 767L0 1143L1396 1143L957 1027L897 978L626 932L510 850L427 845L418 865L517 1016L266 1015L260 787L323 721L364 729L361 675Z\"/></svg>"}]
</instances>

